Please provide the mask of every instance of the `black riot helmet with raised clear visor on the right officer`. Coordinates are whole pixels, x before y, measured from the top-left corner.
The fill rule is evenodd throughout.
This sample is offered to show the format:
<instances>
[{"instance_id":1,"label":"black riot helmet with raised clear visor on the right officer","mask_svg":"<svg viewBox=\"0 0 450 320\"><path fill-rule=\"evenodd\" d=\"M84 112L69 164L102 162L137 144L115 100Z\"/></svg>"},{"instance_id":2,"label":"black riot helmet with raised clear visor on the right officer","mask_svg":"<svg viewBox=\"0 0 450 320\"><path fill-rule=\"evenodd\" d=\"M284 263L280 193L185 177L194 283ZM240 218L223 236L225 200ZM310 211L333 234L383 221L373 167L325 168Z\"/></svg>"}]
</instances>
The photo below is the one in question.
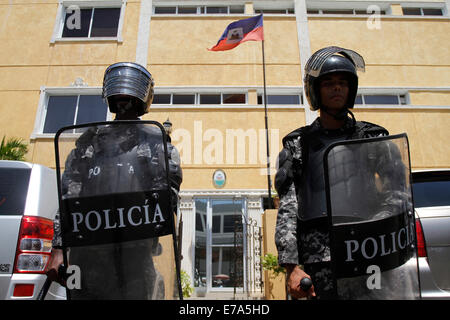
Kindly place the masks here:
<instances>
[{"instance_id":1,"label":"black riot helmet with raised clear visor on the right officer","mask_svg":"<svg viewBox=\"0 0 450 320\"><path fill-rule=\"evenodd\" d=\"M316 51L305 66L304 89L310 109L313 111L320 109L320 80L324 75L335 72L348 75L349 93L346 107L353 108L358 91L356 71L364 71L364 67L363 57L355 51L335 46Z\"/></svg>"}]
</instances>

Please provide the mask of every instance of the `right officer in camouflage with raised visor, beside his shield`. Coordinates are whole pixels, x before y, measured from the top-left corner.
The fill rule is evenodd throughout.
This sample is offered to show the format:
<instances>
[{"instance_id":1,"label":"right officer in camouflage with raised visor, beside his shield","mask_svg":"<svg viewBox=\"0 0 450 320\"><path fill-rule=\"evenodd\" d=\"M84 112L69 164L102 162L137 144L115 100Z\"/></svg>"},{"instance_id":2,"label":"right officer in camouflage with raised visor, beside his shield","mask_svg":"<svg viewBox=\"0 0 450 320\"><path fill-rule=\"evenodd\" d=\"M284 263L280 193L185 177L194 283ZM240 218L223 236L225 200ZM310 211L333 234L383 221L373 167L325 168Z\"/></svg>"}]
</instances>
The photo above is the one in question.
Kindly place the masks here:
<instances>
[{"instance_id":1,"label":"right officer in camouflage with raised visor, beside his shield","mask_svg":"<svg viewBox=\"0 0 450 320\"><path fill-rule=\"evenodd\" d=\"M326 47L315 52L305 67L304 91L311 110L319 110L320 116L283 138L275 177L280 195L275 242L295 299L334 298L323 181L325 149L341 140L388 135L383 127L356 121L350 111L358 69L364 70L364 60L352 50ZM312 279L307 292L300 288L303 278Z\"/></svg>"}]
</instances>

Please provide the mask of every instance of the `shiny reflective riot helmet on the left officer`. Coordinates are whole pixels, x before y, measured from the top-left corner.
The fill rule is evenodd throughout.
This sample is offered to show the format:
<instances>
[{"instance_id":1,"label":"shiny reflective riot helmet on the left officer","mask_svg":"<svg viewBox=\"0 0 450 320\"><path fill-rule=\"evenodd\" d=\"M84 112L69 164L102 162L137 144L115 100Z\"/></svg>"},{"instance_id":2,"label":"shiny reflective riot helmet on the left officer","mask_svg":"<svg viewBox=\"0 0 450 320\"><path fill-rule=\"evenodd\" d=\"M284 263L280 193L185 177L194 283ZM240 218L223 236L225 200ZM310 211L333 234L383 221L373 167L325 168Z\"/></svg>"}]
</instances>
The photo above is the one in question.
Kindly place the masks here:
<instances>
[{"instance_id":1,"label":"shiny reflective riot helmet on the left officer","mask_svg":"<svg viewBox=\"0 0 450 320\"><path fill-rule=\"evenodd\" d=\"M102 96L112 113L118 112L117 99L132 97L132 107L136 108L138 116L142 116L152 104L153 87L153 77L143 66L134 62L118 62L105 71Z\"/></svg>"}]
</instances>

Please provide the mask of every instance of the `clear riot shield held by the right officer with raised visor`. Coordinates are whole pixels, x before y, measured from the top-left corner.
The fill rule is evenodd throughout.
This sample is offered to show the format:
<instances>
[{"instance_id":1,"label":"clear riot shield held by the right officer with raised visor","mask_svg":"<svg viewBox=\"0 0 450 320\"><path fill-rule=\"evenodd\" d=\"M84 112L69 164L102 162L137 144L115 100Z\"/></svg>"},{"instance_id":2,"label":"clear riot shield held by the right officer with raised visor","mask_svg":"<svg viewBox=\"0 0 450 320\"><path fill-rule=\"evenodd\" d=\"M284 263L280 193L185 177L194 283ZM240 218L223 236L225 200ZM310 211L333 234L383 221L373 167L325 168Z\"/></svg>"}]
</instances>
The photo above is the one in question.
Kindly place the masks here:
<instances>
[{"instance_id":1,"label":"clear riot shield held by the right officer with raised visor","mask_svg":"<svg viewBox=\"0 0 450 320\"><path fill-rule=\"evenodd\" d=\"M406 134L332 144L324 173L337 298L420 298Z\"/></svg>"}]
</instances>

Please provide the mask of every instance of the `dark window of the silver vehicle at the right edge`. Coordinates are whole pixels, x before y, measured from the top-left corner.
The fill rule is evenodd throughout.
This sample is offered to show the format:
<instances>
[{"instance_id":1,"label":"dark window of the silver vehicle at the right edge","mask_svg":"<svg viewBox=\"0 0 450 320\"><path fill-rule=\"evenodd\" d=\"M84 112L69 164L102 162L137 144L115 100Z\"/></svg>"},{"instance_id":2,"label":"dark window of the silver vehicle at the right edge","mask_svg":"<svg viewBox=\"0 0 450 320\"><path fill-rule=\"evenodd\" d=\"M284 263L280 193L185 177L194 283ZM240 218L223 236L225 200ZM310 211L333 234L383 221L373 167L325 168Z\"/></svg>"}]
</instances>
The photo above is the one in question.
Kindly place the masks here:
<instances>
[{"instance_id":1,"label":"dark window of the silver vehicle at the right edge","mask_svg":"<svg viewBox=\"0 0 450 320\"><path fill-rule=\"evenodd\" d=\"M413 174L413 196L416 208L450 206L450 175Z\"/></svg>"}]
</instances>

